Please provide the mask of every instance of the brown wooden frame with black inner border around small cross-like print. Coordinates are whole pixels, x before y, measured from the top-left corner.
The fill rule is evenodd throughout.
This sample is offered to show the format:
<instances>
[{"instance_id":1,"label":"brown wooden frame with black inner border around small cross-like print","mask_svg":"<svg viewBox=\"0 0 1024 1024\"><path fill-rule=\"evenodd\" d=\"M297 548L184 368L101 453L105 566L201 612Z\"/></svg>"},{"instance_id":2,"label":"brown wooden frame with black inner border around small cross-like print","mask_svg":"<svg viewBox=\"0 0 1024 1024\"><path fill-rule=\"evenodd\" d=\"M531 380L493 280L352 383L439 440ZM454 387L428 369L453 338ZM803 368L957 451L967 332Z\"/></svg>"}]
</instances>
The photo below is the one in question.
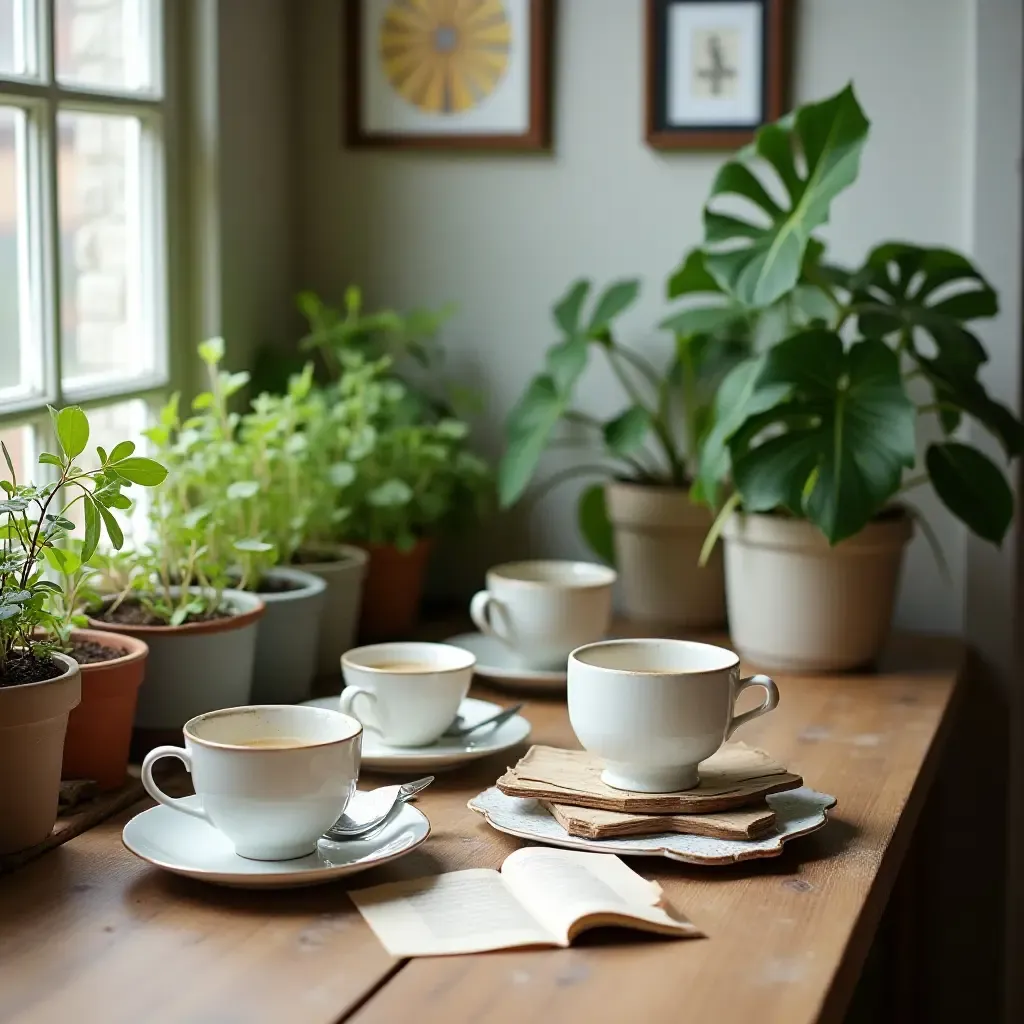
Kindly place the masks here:
<instances>
[{"instance_id":1,"label":"brown wooden frame with black inner border around small cross-like print","mask_svg":"<svg viewBox=\"0 0 1024 1024\"><path fill-rule=\"evenodd\" d=\"M670 9L680 4L723 7L756 3L762 8L760 117L750 124L672 124L668 115ZM646 138L655 150L733 150L787 110L793 0L647 0ZM719 61L716 63L720 67ZM728 69L725 69L728 71Z\"/></svg>"}]
</instances>

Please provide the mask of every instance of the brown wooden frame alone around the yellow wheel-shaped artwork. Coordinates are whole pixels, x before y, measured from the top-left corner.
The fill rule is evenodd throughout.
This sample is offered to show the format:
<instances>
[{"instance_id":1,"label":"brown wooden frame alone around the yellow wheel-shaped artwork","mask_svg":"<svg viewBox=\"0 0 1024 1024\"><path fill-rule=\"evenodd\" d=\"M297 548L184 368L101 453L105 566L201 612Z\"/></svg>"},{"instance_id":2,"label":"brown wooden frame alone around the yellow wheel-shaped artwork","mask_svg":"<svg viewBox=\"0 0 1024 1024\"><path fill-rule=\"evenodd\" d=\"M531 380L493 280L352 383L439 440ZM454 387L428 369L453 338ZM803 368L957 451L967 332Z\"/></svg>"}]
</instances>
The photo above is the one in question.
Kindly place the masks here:
<instances>
[{"instance_id":1,"label":"brown wooden frame alone around the yellow wheel-shaped artwork","mask_svg":"<svg viewBox=\"0 0 1024 1024\"><path fill-rule=\"evenodd\" d=\"M551 82L555 0L526 0L529 10L528 126L515 134L373 131L364 124L362 52L365 0L342 0L345 69L342 137L357 148L389 150L550 150Z\"/></svg>"}]
</instances>

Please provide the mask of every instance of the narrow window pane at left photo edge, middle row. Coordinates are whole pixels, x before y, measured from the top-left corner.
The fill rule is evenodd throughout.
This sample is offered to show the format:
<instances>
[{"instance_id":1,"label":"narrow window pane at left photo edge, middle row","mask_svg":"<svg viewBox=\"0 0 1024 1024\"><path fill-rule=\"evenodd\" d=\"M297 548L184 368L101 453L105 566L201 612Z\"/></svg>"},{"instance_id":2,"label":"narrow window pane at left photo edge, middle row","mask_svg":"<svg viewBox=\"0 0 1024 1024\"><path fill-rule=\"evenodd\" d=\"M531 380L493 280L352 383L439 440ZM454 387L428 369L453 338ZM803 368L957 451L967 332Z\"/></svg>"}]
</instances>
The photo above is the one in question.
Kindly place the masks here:
<instances>
[{"instance_id":1,"label":"narrow window pane at left photo edge, middle row","mask_svg":"<svg viewBox=\"0 0 1024 1024\"><path fill-rule=\"evenodd\" d=\"M25 114L0 106L0 410L42 390L25 148Z\"/></svg>"}]
</instances>

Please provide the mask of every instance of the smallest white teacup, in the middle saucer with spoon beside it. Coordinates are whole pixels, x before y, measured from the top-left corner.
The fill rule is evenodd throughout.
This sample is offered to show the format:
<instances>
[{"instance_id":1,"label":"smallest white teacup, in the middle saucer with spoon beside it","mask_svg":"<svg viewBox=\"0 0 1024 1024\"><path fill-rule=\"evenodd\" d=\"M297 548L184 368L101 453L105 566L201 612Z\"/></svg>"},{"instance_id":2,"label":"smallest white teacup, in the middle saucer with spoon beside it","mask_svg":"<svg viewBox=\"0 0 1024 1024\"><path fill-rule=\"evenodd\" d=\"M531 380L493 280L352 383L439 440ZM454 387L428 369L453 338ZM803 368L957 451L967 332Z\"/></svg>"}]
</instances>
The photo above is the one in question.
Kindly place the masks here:
<instances>
[{"instance_id":1,"label":"smallest white teacup, in the middle saucer with spoon beside it","mask_svg":"<svg viewBox=\"0 0 1024 1024\"><path fill-rule=\"evenodd\" d=\"M446 643L377 643L341 656L341 710L391 746L426 746L455 721L476 658Z\"/></svg>"}]
</instances>

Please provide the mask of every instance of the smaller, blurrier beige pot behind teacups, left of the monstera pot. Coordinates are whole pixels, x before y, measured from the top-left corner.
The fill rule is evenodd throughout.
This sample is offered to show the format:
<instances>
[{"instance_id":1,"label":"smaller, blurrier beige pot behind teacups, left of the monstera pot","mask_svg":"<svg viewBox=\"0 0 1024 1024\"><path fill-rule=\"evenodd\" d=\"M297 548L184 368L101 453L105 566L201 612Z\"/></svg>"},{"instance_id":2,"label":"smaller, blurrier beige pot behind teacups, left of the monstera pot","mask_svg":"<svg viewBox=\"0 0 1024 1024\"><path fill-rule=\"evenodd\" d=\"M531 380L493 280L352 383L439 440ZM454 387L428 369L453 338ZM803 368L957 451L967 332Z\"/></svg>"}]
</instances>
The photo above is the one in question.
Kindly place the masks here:
<instances>
[{"instance_id":1,"label":"smaller, blurrier beige pot behind teacups, left of the monstera pot","mask_svg":"<svg viewBox=\"0 0 1024 1024\"><path fill-rule=\"evenodd\" d=\"M675 629L721 627L721 551L702 568L698 564L711 512L694 505L684 488L611 480L604 495L627 617Z\"/></svg>"}]
</instances>

